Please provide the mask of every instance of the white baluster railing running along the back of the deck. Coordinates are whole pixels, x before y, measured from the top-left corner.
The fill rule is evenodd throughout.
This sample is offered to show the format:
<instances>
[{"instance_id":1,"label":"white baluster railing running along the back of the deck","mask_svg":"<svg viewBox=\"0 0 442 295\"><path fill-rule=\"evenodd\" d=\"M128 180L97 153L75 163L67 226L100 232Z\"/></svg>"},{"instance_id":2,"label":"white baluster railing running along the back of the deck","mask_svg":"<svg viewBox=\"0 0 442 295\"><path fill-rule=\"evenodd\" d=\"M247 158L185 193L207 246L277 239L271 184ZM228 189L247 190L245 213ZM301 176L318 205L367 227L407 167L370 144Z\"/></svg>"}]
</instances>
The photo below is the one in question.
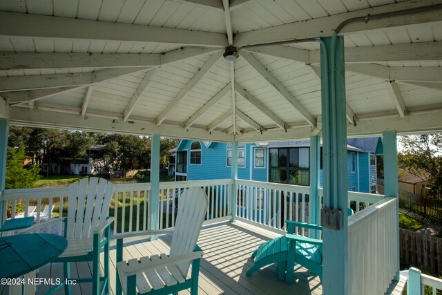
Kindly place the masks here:
<instances>
[{"instance_id":1,"label":"white baluster railing running along the back of the deck","mask_svg":"<svg viewBox=\"0 0 442 295\"><path fill-rule=\"evenodd\" d=\"M250 180L236 180L235 183L238 220L251 222L253 225L281 234L287 230L285 225L287 219L309 222L309 187ZM231 218L231 185L233 185L231 179L160 182L158 209L160 229L174 227L177 203L179 203L181 193L191 186L202 187L209 196L206 223ZM36 205L36 211L40 212L44 205L55 204L55 212L63 216L63 211L67 210L67 194L67 187L6 190L3 192L3 216L6 216L8 205L12 207L12 216L15 216L18 203L23 204L25 212L28 211L30 205ZM322 196L322 189L318 190L318 195ZM150 197L150 183L115 184L114 198L111 203L111 215L115 217L114 234L149 229ZM360 202L369 206L382 199L383 196L380 195L349 192L349 203L356 202L356 211L359 210ZM36 220L40 222L39 213L37 213ZM305 232L302 231L300 234L305 234Z\"/></svg>"}]
</instances>

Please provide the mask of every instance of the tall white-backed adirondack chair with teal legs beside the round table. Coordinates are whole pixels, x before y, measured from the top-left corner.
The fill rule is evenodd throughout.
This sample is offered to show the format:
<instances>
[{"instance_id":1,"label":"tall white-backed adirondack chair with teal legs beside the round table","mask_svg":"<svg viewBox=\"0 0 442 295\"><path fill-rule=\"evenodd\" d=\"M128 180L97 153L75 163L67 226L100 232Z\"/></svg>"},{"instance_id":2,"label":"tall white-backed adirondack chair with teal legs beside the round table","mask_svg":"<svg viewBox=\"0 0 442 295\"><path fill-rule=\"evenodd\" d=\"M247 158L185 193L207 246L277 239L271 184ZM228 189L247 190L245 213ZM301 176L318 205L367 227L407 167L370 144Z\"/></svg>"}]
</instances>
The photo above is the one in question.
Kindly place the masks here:
<instances>
[{"instance_id":1,"label":"tall white-backed adirondack chair with teal legs beside the round table","mask_svg":"<svg viewBox=\"0 0 442 295\"><path fill-rule=\"evenodd\" d=\"M108 218L108 212L112 195L113 184L111 182L102 178L83 178L70 184L67 217L54 218L21 231L21 233L35 231L50 227L56 222L62 226L61 222L65 222L64 236L68 240L68 247L53 262L64 263L64 276L70 279L71 262L92 261L91 278L74 278L77 283L92 282L92 294L109 294L110 291L109 233L113 218ZM102 247L104 247L104 276L100 277L99 252ZM102 282L101 289L100 281ZM70 285L64 287L65 293L71 294Z\"/></svg>"}]
</instances>

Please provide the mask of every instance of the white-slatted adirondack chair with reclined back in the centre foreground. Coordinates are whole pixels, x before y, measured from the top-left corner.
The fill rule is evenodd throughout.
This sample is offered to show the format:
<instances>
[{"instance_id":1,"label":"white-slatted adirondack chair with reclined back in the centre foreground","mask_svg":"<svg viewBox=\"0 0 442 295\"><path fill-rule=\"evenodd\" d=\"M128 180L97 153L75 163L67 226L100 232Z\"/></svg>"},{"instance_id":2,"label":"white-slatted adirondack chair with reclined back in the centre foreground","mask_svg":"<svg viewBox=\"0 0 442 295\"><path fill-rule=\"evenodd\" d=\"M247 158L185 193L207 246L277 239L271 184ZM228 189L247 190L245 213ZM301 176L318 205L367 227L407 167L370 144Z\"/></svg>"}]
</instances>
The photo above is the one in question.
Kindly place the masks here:
<instances>
[{"instance_id":1,"label":"white-slatted adirondack chair with reclined back in the centre foreground","mask_svg":"<svg viewBox=\"0 0 442 295\"><path fill-rule=\"evenodd\" d=\"M178 204L177 220L169 256L166 254L142 257L140 260L122 260L122 238L117 240L117 292L121 294L177 294L183 289L198 293L198 276L202 250L196 242L200 235L202 222L207 209L207 196L200 187L191 187L182 193ZM138 231L137 234L164 234L170 230ZM126 236L134 236L128 233ZM186 280L192 263L191 278ZM118 283L121 283L119 285Z\"/></svg>"}]
</instances>

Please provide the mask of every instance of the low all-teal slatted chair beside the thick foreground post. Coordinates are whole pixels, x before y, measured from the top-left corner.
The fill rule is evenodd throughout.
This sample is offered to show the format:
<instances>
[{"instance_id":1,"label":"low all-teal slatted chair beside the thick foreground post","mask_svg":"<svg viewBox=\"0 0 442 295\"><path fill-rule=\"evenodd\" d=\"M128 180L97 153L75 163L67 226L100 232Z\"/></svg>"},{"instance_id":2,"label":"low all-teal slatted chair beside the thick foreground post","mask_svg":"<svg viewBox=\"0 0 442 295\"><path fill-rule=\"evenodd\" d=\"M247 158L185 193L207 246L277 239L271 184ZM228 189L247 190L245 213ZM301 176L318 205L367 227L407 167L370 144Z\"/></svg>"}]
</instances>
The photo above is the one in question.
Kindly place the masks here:
<instances>
[{"instance_id":1,"label":"low all-teal slatted chair beside the thick foreground post","mask_svg":"<svg viewBox=\"0 0 442 295\"><path fill-rule=\"evenodd\" d=\"M353 214L352 209L347 210L348 216ZM323 240L308 238L294 234L295 228L322 230L320 225L305 222L285 220L287 234L273 238L262 243L252 257L255 263L247 270L247 276L251 276L261 267L278 263L278 279L286 283L293 283L294 266L299 264L310 272L323 276Z\"/></svg>"}]
</instances>

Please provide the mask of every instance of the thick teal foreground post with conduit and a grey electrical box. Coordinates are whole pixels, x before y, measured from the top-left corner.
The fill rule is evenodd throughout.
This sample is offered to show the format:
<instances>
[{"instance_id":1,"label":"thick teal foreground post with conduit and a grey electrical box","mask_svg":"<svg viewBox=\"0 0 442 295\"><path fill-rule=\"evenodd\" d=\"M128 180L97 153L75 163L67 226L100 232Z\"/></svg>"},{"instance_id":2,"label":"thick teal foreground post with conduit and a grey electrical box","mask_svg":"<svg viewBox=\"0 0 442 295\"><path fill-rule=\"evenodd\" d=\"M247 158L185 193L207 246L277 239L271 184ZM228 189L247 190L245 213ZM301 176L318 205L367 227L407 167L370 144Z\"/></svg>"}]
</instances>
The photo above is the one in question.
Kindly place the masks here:
<instances>
[{"instance_id":1,"label":"thick teal foreground post with conduit and a grey electrical box","mask_svg":"<svg viewBox=\"0 0 442 295\"><path fill-rule=\"evenodd\" d=\"M344 38L320 42L323 116L323 204L341 209L341 227L323 230L323 293L347 295L347 122L345 117ZM324 220L321 220L323 222Z\"/></svg>"}]
</instances>

